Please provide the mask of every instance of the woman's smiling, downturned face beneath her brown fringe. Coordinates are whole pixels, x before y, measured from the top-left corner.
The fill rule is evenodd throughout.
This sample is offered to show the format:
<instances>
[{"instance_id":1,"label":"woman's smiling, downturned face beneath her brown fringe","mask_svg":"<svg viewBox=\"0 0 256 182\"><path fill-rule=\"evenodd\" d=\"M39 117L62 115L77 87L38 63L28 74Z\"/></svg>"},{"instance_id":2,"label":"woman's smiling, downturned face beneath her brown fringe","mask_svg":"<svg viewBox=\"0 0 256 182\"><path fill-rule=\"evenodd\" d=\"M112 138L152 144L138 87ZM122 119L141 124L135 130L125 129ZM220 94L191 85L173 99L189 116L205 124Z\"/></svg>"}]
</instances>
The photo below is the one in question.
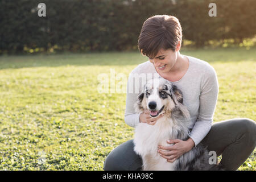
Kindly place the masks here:
<instances>
[{"instance_id":1,"label":"woman's smiling, downturned face beneath her brown fringe","mask_svg":"<svg viewBox=\"0 0 256 182\"><path fill-rule=\"evenodd\" d=\"M172 49L160 49L154 58L148 57L148 59L154 64L158 73L168 73L177 61L177 51L172 51Z\"/></svg>"}]
</instances>

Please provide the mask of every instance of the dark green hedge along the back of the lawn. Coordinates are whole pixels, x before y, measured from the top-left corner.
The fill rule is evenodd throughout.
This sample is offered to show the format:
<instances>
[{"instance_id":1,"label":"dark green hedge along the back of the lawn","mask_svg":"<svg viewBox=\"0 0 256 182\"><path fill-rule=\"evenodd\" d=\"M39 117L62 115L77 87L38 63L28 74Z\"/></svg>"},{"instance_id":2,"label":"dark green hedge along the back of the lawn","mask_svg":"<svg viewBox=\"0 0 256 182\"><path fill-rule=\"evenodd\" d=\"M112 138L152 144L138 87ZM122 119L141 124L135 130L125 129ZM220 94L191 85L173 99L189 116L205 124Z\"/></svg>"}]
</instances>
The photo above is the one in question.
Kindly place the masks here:
<instances>
[{"instance_id":1,"label":"dark green hedge along the back of the lawn","mask_svg":"<svg viewBox=\"0 0 256 182\"><path fill-rule=\"evenodd\" d=\"M45 0L0 1L0 54L40 51L121 51L137 49L144 20L156 14L175 15L183 39L196 46L209 40L255 35L254 0ZM217 5L217 16L208 5Z\"/></svg>"}]
</instances>

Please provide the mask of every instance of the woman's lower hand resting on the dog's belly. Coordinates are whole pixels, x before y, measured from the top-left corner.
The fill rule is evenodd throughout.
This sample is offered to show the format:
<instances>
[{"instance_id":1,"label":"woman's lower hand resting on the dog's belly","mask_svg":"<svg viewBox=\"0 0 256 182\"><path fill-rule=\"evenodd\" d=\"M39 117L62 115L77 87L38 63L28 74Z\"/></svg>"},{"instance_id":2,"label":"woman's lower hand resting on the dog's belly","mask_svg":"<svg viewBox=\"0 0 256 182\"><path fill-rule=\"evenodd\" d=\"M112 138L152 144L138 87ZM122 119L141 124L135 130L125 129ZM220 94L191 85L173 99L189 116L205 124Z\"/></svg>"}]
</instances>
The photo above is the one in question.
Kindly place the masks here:
<instances>
[{"instance_id":1,"label":"woman's lower hand resting on the dog's belly","mask_svg":"<svg viewBox=\"0 0 256 182\"><path fill-rule=\"evenodd\" d=\"M195 146L195 143L191 138L186 141L180 139L168 140L167 143L174 143L174 145L167 147L158 146L158 153L164 159L167 159L167 162L171 163L175 162L176 159L178 159L184 153L190 151Z\"/></svg>"}]
</instances>

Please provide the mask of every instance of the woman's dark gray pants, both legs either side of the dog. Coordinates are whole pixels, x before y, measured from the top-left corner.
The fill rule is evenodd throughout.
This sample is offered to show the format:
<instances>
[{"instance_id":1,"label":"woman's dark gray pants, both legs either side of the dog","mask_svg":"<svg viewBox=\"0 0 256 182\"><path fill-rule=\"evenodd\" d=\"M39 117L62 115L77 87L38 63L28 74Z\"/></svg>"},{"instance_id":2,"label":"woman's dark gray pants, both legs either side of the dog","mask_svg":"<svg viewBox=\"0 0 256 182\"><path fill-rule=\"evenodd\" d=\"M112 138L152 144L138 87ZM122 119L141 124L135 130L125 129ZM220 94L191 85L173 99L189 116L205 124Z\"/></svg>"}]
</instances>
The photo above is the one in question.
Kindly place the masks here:
<instances>
[{"instance_id":1,"label":"woman's dark gray pants, both legs either side of the dog","mask_svg":"<svg viewBox=\"0 0 256 182\"><path fill-rule=\"evenodd\" d=\"M229 119L214 123L201 141L209 151L222 155L221 164L228 170L236 170L254 151L256 145L256 123L251 119ZM116 147L107 156L104 170L140 170L142 159L135 154L133 140Z\"/></svg>"}]
</instances>

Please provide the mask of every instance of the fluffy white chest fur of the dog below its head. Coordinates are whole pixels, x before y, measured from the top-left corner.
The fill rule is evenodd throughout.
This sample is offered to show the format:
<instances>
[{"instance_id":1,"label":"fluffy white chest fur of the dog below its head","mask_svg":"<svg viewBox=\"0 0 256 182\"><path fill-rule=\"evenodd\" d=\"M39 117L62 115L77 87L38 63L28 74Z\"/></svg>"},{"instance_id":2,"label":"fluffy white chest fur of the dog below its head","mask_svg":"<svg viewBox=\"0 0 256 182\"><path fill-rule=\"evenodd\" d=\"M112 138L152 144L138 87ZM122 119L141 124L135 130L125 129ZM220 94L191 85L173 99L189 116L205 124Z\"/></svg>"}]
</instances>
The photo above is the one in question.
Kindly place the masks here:
<instances>
[{"instance_id":1,"label":"fluffy white chest fur of the dog below its head","mask_svg":"<svg viewBox=\"0 0 256 182\"><path fill-rule=\"evenodd\" d=\"M168 139L174 139L172 134L172 122L170 118L162 117L156 121L155 125L148 125L147 123L139 123L135 128L134 135L134 151L142 156L143 170L174 170L176 160L174 163L167 162L159 155L158 146L171 146L168 144Z\"/></svg>"}]
</instances>

